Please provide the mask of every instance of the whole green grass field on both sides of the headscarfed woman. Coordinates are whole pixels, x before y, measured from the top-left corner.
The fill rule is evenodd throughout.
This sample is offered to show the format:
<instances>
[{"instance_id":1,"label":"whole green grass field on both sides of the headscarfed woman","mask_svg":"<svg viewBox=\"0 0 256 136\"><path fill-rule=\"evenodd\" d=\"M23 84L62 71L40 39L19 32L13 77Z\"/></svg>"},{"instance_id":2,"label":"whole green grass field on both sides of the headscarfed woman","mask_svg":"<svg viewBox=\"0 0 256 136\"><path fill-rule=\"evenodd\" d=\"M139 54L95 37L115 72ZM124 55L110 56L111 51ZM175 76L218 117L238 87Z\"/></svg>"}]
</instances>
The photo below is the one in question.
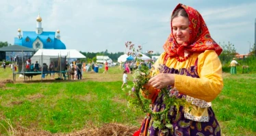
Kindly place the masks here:
<instances>
[{"instance_id":1,"label":"whole green grass field on both sides of the headscarfed woman","mask_svg":"<svg viewBox=\"0 0 256 136\"><path fill-rule=\"evenodd\" d=\"M0 68L1 82L12 79L7 70ZM18 77L16 83L1 83L0 134L18 135L15 130L72 133L106 123L138 128L144 113L127 108L127 92L120 89L122 75L114 67L108 74L84 73L81 81L47 77L41 82L36 76L25 83ZM224 73L223 77L225 87L212 106L223 135L256 135L256 74ZM131 84L131 74L129 79Z\"/></svg>"}]
</instances>

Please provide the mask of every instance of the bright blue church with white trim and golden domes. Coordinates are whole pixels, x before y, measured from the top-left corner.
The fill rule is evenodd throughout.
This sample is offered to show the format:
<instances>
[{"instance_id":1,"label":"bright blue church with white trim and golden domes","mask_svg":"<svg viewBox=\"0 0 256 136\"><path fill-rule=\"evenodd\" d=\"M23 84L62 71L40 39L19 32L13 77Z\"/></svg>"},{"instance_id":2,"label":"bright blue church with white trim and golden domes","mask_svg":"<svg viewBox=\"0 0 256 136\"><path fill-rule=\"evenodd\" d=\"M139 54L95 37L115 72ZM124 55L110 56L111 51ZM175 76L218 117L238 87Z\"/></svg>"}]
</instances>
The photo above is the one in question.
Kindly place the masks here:
<instances>
[{"instance_id":1,"label":"bright blue church with white trim and golden domes","mask_svg":"<svg viewBox=\"0 0 256 136\"><path fill-rule=\"evenodd\" d=\"M21 31L18 28L18 36L14 38L14 45L25 46L31 49L66 49L60 40L60 30L43 31L40 14L36 18L36 31Z\"/></svg>"}]
</instances>

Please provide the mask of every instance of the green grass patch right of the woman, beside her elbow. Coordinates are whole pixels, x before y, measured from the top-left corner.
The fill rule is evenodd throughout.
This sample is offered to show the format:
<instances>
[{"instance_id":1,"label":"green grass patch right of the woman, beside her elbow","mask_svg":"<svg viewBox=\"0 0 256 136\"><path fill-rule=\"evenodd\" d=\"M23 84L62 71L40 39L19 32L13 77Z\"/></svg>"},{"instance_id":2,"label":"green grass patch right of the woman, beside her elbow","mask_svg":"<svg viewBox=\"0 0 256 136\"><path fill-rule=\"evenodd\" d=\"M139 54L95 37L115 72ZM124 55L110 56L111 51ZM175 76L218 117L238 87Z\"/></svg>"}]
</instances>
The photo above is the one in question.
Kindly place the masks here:
<instances>
[{"instance_id":1,"label":"green grass patch right of the woman, beside her elbow","mask_svg":"<svg viewBox=\"0 0 256 136\"><path fill-rule=\"evenodd\" d=\"M225 135L256 135L256 74L223 74L213 109Z\"/></svg>"}]
</instances>

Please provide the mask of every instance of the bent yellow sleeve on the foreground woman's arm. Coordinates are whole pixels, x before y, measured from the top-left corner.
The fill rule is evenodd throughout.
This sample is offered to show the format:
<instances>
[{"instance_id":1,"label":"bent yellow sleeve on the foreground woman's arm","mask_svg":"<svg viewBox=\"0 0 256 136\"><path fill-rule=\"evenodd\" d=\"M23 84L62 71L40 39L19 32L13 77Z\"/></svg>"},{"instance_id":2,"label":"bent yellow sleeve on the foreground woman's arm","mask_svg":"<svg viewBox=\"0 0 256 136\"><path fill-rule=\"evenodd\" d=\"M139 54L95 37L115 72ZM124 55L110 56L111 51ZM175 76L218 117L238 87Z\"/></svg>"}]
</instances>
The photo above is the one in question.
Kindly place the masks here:
<instances>
[{"instance_id":1,"label":"bent yellow sleeve on the foreground woman's arm","mask_svg":"<svg viewBox=\"0 0 256 136\"><path fill-rule=\"evenodd\" d=\"M200 78L175 74L175 87L181 94L211 102L223 88L222 66L215 51L198 56L197 72Z\"/></svg>"}]
</instances>

